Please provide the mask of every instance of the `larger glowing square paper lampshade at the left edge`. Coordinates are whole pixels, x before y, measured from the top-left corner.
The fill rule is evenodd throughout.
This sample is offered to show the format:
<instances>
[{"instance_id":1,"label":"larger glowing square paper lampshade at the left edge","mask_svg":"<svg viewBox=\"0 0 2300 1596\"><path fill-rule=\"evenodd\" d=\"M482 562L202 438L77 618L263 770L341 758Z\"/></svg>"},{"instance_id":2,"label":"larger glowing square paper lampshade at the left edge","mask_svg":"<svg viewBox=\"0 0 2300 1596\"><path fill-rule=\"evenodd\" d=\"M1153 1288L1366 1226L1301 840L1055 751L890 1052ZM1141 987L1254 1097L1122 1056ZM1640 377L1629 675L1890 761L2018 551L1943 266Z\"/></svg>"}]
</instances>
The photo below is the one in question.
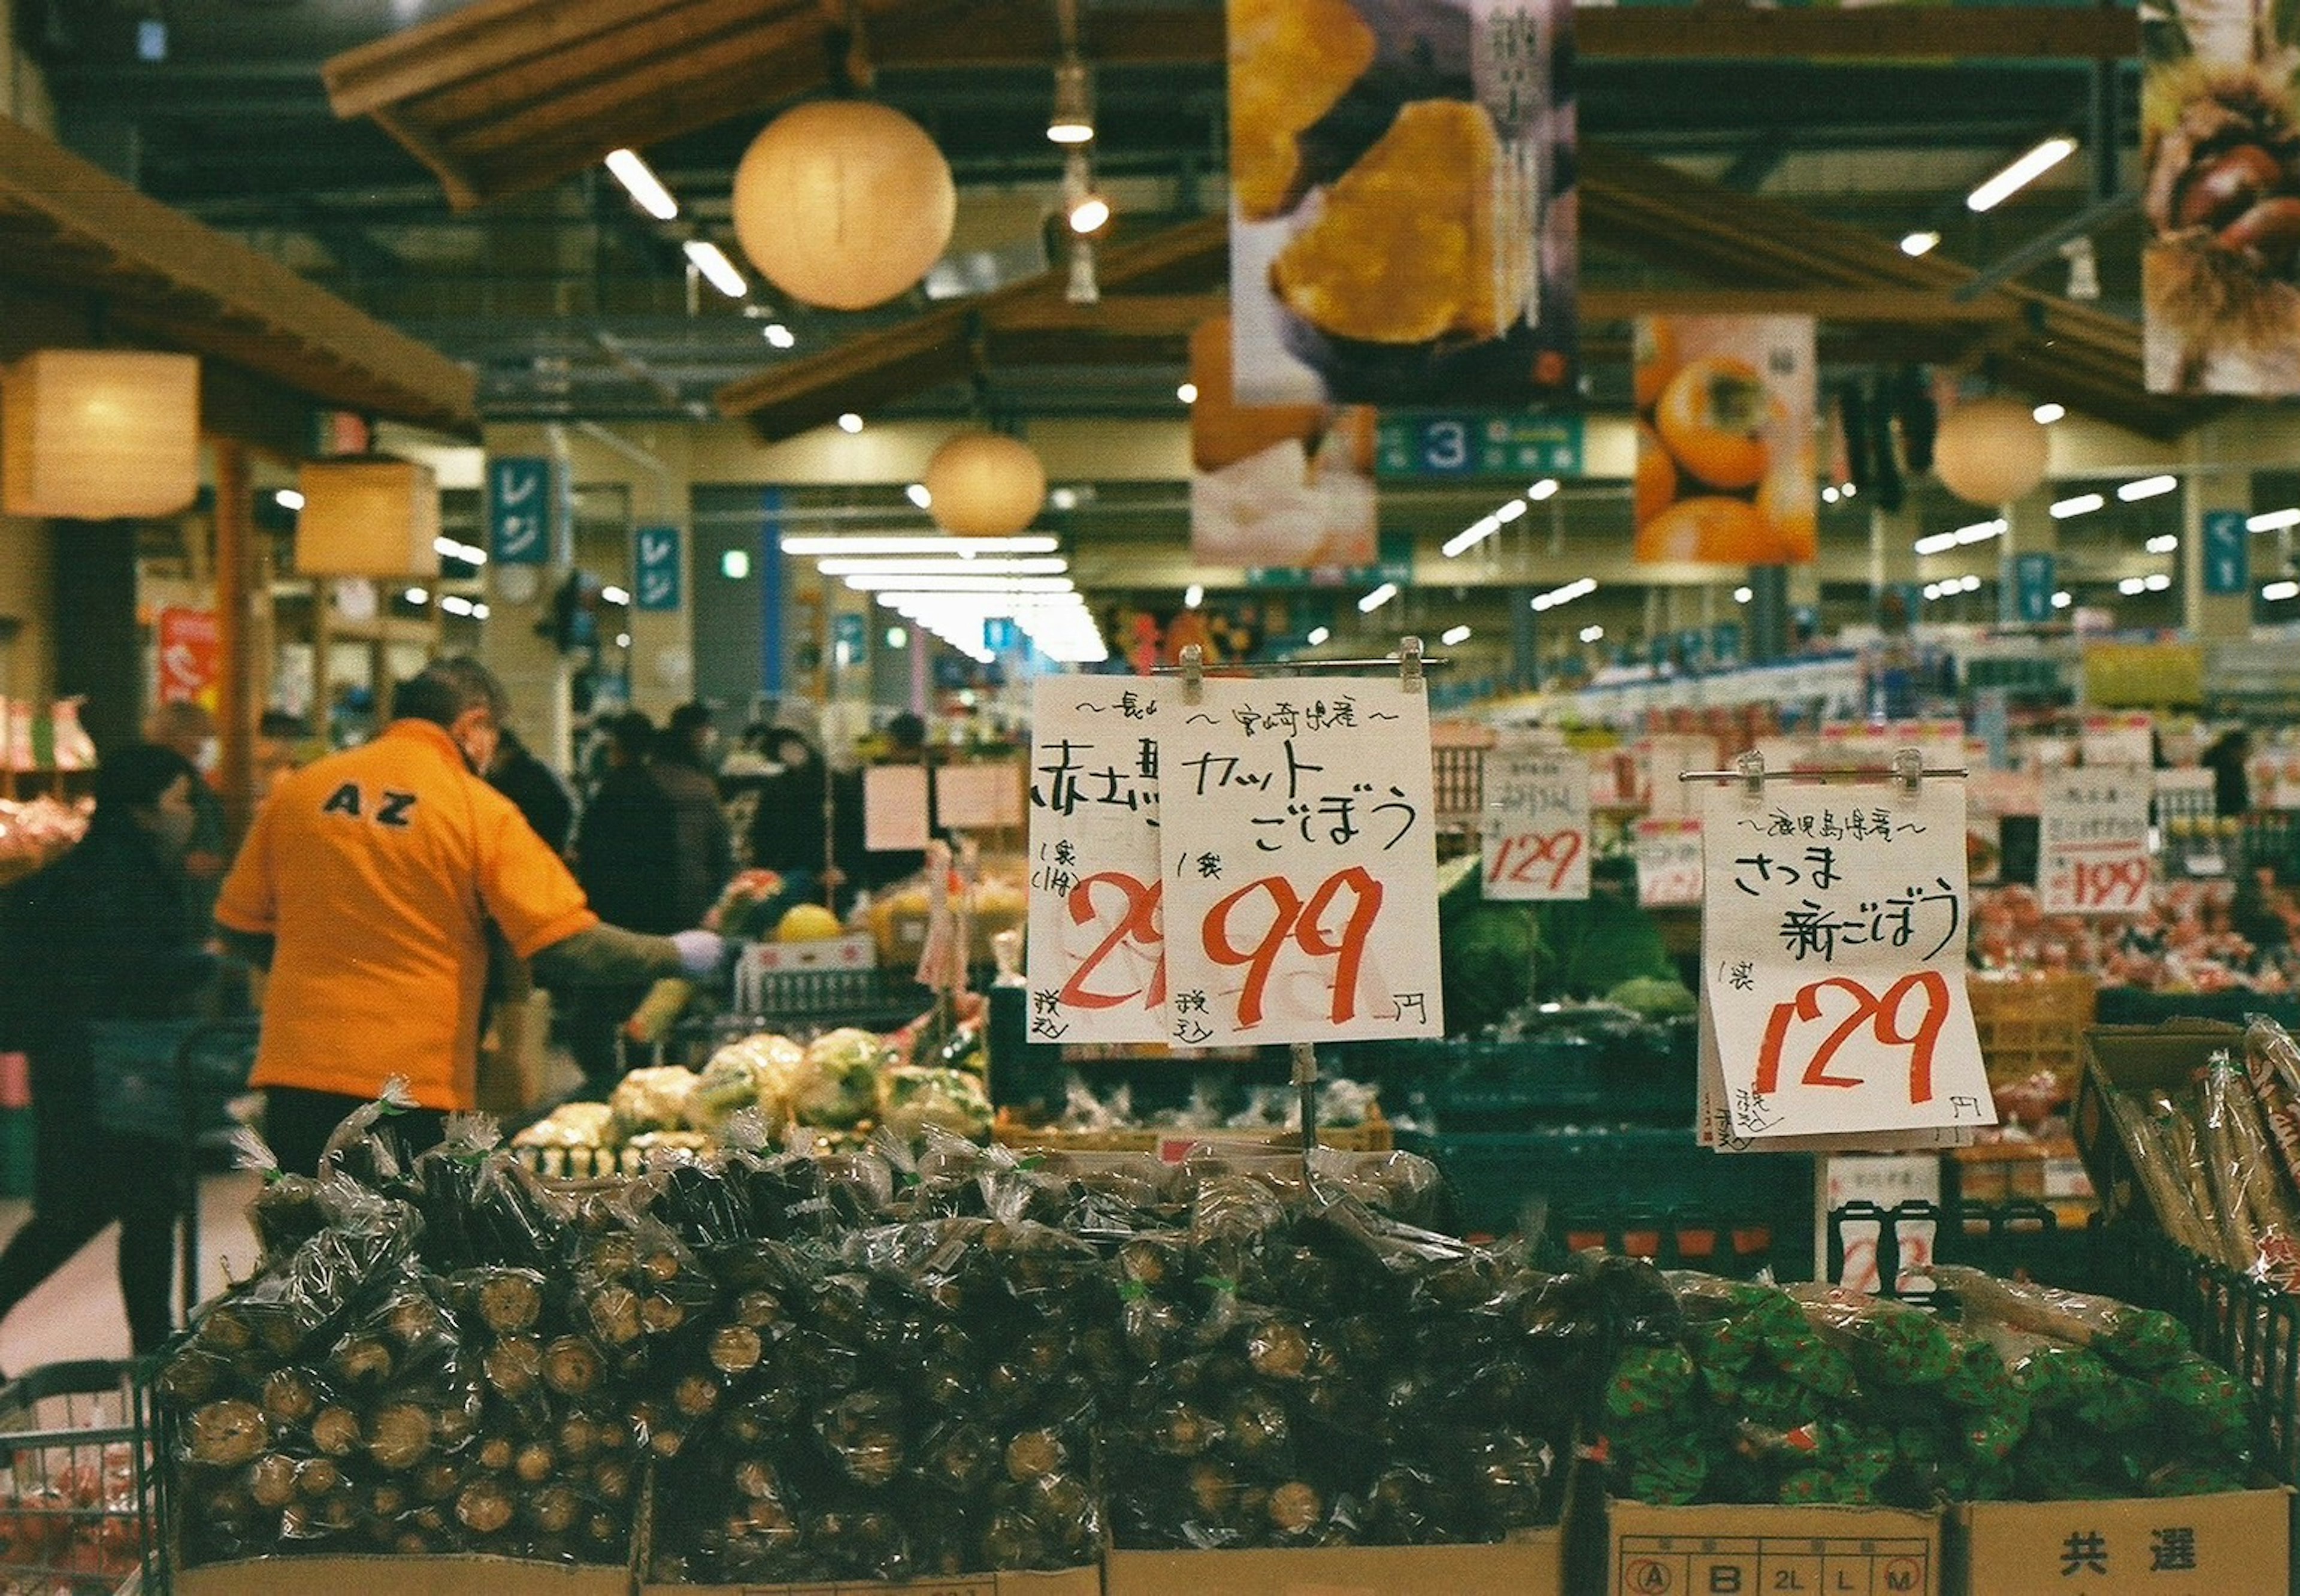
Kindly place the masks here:
<instances>
[{"instance_id":1,"label":"larger glowing square paper lampshade at the left edge","mask_svg":"<svg viewBox=\"0 0 2300 1596\"><path fill-rule=\"evenodd\" d=\"M9 515L175 515L200 490L200 361L34 350L0 377Z\"/></svg>"}]
</instances>

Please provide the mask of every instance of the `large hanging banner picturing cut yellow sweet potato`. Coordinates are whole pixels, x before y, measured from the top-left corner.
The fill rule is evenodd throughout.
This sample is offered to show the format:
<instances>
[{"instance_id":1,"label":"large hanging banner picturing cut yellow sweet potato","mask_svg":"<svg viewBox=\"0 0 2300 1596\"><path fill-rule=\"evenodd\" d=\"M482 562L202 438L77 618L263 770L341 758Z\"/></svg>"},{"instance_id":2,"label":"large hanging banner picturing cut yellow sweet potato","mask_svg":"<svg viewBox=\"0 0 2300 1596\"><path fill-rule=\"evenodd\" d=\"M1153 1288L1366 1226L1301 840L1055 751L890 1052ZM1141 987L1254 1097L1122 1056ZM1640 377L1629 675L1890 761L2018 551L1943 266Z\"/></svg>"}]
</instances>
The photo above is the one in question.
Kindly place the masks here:
<instances>
[{"instance_id":1,"label":"large hanging banner picturing cut yellow sweet potato","mask_svg":"<svg viewBox=\"0 0 2300 1596\"><path fill-rule=\"evenodd\" d=\"M1230 0L1237 396L1573 400L1571 0Z\"/></svg>"}]
</instances>

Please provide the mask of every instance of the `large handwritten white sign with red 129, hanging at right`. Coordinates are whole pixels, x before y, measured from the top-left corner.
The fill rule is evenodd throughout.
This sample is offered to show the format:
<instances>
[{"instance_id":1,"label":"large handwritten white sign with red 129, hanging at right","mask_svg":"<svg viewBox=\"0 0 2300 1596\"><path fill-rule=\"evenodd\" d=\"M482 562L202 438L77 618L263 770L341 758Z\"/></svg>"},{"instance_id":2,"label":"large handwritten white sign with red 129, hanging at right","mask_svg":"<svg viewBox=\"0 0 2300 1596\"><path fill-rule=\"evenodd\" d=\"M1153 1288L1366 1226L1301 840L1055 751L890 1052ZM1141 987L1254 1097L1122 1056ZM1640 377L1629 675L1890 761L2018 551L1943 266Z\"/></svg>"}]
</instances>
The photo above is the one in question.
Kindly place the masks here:
<instances>
[{"instance_id":1,"label":"large handwritten white sign with red 129, hanging at right","mask_svg":"<svg viewBox=\"0 0 2300 1596\"><path fill-rule=\"evenodd\" d=\"M1732 1136L1994 1125L1964 993L1964 784L1713 784L1704 1039Z\"/></svg>"}]
</instances>

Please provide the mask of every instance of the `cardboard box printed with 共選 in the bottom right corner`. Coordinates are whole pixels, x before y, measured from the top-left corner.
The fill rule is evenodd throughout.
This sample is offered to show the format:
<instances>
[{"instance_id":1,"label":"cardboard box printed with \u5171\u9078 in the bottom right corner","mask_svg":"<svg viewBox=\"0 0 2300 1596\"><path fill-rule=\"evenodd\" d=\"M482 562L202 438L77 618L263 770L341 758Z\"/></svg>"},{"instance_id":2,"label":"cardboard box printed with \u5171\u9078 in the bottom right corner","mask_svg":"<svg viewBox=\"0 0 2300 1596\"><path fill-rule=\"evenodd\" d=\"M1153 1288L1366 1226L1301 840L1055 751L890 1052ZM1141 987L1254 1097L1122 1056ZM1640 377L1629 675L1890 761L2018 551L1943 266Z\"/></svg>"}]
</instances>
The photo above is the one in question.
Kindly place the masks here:
<instances>
[{"instance_id":1,"label":"cardboard box printed with \u5171\u9078 in the bottom right corner","mask_svg":"<svg viewBox=\"0 0 2300 1596\"><path fill-rule=\"evenodd\" d=\"M1960 1596L2245 1596L2291 1580L2291 1488L2130 1502L1973 1502L1950 1513Z\"/></svg>"}]
</instances>

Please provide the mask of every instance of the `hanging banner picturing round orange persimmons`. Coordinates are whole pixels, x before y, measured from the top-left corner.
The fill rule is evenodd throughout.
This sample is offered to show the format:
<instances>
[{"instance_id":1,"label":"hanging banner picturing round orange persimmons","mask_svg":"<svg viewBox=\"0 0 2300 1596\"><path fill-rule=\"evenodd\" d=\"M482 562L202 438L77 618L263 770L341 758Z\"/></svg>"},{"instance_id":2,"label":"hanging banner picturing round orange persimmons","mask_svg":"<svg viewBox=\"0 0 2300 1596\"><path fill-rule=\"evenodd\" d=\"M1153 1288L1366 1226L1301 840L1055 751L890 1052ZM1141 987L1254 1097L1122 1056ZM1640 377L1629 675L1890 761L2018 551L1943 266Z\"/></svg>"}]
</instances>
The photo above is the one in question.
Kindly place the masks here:
<instances>
[{"instance_id":1,"label":"hanging banner picturing round orange persimmons","mask_svg":"<svg viewBox=\"0 0 2300 1596\"><path fill-rule=\"evenodd\" d=\"M1812 317L1640 315L1635 361L1638 563L1808 563Z\"/></svg>"}]
</instances>

